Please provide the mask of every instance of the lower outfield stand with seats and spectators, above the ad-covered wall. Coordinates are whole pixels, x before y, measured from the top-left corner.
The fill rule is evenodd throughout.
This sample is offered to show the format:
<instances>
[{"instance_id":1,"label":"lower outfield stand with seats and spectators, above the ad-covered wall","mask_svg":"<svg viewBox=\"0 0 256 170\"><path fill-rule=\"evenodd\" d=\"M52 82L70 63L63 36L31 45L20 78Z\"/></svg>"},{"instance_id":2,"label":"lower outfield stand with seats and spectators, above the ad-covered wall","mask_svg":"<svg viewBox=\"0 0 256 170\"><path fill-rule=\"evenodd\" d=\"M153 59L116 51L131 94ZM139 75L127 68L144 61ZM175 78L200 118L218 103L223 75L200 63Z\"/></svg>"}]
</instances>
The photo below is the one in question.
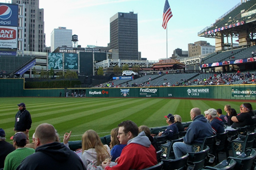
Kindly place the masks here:
<instances>
[{"instance_id":1,"label":"lower outfield stand with seats and spectators, above the ad-covered wall","mask_svg":"<svg viewBox=\"0 0 256 170\"><path fill-rule=\"evenodd\" d=\"M134 79L116 79L94 87L171 87L171 86L209 86L231 84L253 84L256 71L246 70L241 73L163 73L146 74ZM108 86L110 84L110 86Z\"/></svg>"}]
</instances>

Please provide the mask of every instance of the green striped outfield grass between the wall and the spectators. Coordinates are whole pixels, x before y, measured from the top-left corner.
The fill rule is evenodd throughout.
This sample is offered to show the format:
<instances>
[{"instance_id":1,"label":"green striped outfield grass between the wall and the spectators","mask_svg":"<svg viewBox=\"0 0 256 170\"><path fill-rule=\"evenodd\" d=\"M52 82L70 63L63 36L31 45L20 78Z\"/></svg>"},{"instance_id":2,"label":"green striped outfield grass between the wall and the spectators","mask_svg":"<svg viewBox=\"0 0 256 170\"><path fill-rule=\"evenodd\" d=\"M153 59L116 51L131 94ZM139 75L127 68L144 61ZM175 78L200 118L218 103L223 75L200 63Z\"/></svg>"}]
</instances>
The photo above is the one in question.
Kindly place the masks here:
<instances>
[{"instance_id":1,"label":"green striped outfield grass between the wall and the spectators","mask_svg":"<svg viewBox=\"0 0 256 170\"><path fill-rule=\"evenodd\" d=\"M102 137L125 120L138 126L164 126L168 113L180 114L183 122L191 121L191 108L201 111L221 108L230 104L239 112L245 101L210 101L195 99L149 99L149 98L85 98L85 97L5 97L0 98L0 128L6 131L7 141L14 134L15 114L19 103L25 103L32 117L30 137L36 126L49 123L55 126L60 136L72 130L71 141L81 140L81 135L93 129ZM255 101L256 102L256 101ZM251 103L256 109L256 103ZM226 113L224 113L226 114Z\"/></svg>"}]
</instances>

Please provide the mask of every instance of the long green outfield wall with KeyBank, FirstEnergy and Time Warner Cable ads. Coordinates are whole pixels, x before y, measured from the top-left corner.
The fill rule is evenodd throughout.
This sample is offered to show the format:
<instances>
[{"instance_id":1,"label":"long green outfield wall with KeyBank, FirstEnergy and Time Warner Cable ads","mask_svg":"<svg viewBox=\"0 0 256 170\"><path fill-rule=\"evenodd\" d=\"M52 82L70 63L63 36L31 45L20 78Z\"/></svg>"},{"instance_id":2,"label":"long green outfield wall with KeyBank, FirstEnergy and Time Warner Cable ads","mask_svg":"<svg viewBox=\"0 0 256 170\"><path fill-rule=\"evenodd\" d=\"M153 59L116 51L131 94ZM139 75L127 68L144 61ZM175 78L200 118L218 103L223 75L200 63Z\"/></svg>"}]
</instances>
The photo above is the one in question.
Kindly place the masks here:
<instances>
[{"instance_id":1,"label":"long green outfield wall with KeyBank, FirstEnergy and Time Warner Cable ads","mask_svg":"<svg viewBox=\"0 0 256 170\"><path fill-rule=\"evenodd\" d=\"M202 99L256 99L255 84L182 87L88 88L86 97L184 97Z\"/></svg>"}]
</instances>

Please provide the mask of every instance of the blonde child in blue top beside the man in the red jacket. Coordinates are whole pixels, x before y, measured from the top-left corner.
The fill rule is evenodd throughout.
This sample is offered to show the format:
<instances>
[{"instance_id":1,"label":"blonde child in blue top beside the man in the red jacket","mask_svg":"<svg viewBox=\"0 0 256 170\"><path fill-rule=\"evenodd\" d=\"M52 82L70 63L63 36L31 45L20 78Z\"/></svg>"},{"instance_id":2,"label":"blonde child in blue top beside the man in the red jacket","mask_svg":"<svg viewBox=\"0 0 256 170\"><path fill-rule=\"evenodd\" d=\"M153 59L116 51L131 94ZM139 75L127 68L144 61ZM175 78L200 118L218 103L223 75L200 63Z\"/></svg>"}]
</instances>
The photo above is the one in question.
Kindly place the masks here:
<instances>
[{"instance_id":1,"label":"blonde child in blue top beside the man in the red jacket","mask_svg":"<svg viewBox=\"0 0 256 170\"><path fill-rule=\"evenodd\" d=\"M123 150L123 148L126 146L126 145L121 145L118 138L117 138L117 135L118 135L118 129L119 128L114 128L111 130L111 142L110 142L110 148L111 148L111 156L112 156L112 161L115 161L115 159L117 159L120 155L121 155L121 152Z\"/></svg>"}]
</instances>

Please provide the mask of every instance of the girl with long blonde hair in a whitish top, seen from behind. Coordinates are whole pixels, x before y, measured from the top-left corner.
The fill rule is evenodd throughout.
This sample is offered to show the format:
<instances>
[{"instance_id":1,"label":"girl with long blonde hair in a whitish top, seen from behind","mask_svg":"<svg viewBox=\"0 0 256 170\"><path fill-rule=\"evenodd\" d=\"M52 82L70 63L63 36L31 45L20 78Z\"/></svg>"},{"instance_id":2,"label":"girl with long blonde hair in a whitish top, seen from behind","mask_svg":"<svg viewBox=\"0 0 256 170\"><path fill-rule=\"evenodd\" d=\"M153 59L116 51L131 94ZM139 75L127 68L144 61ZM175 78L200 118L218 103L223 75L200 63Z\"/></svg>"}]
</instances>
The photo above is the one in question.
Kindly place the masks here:
<instances>
[{"instance_id":1,"label":"girl with long blonde hair in a whitish top, seen from behind","mask_svg":"<svg viewBox=\"0 0 256 170\"><path fill-rule=\"evenodd\" d=\"M85 131L82 135L82 163L85 168L92 162L96 166L101 165L106 158L110 158L109 146L102 144L96 131Z\"/></svg>"}]
</instances>

